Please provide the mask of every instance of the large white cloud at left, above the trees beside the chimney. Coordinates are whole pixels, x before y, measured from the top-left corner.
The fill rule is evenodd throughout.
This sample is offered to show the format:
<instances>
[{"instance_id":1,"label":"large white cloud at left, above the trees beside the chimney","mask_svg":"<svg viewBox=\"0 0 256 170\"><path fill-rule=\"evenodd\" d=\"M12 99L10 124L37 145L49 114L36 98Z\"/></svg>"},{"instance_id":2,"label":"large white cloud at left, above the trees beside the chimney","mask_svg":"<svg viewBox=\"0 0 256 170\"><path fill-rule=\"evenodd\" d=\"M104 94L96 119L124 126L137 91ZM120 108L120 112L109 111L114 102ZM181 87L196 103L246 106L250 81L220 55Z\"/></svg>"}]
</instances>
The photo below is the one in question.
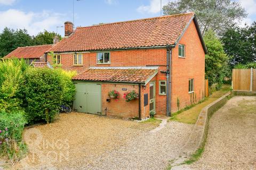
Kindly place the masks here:
<instances>
[{"instance_id":1,"label":"large white cloud at left, above the trees beside the chimney","mask_svg":"<svg viewBox=\"0 0 256 170\"><path fill-rule=\"evenodd\" d=\"M55 30L57 25L62 25L64 21L61 16L63 15L51 11L40 13L23 12L15 9L0 11L0 30L5 27L27 29L30 35L36 35L44 29Z\"/></svg>"}]
</instances>

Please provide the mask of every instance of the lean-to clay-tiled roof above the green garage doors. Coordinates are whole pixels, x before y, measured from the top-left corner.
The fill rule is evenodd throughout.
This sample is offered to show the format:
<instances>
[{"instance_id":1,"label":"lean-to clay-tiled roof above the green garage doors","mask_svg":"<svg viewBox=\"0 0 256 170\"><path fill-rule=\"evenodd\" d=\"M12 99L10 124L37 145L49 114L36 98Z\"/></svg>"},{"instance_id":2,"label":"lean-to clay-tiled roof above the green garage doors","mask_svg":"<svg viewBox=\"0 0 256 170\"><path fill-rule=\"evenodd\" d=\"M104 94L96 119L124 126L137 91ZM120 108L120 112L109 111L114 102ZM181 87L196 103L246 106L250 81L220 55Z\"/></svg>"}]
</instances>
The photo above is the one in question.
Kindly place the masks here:
<instances>
[{"instance_id":1,"label":"lean-to clay-tiled roof above the green garage doors","mask_svg":"<svg viewBox=\"0 0 256 170\"><path fill-rule=\"evenodd\" d=\"M146 82L156 73L157 69L88 69L73 80Z\"/></svg>"}]
</instances>

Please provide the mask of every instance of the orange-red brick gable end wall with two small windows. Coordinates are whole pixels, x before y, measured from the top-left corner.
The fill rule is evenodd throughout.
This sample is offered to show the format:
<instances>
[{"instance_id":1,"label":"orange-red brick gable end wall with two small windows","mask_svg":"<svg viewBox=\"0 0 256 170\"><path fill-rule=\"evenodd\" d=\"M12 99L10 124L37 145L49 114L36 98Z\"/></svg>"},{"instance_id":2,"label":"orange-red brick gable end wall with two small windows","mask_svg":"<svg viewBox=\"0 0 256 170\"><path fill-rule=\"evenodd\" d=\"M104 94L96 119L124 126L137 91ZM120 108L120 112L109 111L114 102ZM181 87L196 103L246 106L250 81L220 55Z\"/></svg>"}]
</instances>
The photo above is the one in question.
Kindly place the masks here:
<instances>
[{"instance_id":1,"label":"orange-red brick gable end wall with two small windows","mask_svg":"<svg viewBox=\"0 0 256 170\"><path fill-rule=\"evenodd\" d=\"M204 50L196 32L194 22L191 22L179 44L185 45L186 58L178 57L178 45L172 50L172 112L177 111L177 98L180 107L190 105L188 80L194 78L194 91L197 101L202 99L204 91ZM200 93L199 93L200 92Z\"/></svg>"}]
</instances>

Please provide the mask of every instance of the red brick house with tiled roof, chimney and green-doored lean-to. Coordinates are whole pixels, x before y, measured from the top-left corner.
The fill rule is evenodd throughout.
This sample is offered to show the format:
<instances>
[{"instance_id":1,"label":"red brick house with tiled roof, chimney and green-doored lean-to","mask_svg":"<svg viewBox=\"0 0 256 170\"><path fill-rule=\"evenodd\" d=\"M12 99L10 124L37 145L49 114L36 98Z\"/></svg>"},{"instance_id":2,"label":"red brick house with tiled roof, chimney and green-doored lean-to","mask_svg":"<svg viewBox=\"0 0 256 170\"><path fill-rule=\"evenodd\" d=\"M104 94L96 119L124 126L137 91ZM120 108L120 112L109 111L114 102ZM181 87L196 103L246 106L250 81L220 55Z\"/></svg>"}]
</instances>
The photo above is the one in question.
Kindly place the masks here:
<instances>
[{"instance_id":1,"label":"red brick house with tiled roof, chimney and green-doored lean-to","mask_svg":"<svg viewBox=\"0 0 256 170\"><path fill-rule=\"evenodd\" d=\"M47 61L77 70L74 110L118 117L170 115L204 96L206 47L194 13L78 27ZM110 91L119 98L111 98ZM135 91L138 98L123 98ZM133 92L134 92L133 91Z\"/></svg>"}]
</instances>

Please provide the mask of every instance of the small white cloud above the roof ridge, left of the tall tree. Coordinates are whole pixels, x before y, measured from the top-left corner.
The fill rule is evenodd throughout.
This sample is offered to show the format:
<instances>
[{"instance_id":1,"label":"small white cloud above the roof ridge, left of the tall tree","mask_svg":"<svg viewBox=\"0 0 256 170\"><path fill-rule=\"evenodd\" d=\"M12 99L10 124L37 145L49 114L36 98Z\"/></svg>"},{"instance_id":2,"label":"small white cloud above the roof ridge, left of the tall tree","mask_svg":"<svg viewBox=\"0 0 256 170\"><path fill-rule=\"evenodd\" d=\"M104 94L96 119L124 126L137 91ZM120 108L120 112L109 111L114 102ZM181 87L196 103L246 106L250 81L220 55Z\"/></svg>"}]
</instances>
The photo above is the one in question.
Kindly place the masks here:
<instances>
[{"instance_id":1,"label":"small white cloud above the roof ridge, left of the tall tree","mask_svg":"<svg viewBox=\"0 0 256 170\"><path fill-rule=\"evenodd\" d=\"M170 0L162 0L162 6L166 5ZM158 13L161 11L161 0L150 0L149 5L141 5L137 8L140 13Z\"/></svg>"}]
</instances>

